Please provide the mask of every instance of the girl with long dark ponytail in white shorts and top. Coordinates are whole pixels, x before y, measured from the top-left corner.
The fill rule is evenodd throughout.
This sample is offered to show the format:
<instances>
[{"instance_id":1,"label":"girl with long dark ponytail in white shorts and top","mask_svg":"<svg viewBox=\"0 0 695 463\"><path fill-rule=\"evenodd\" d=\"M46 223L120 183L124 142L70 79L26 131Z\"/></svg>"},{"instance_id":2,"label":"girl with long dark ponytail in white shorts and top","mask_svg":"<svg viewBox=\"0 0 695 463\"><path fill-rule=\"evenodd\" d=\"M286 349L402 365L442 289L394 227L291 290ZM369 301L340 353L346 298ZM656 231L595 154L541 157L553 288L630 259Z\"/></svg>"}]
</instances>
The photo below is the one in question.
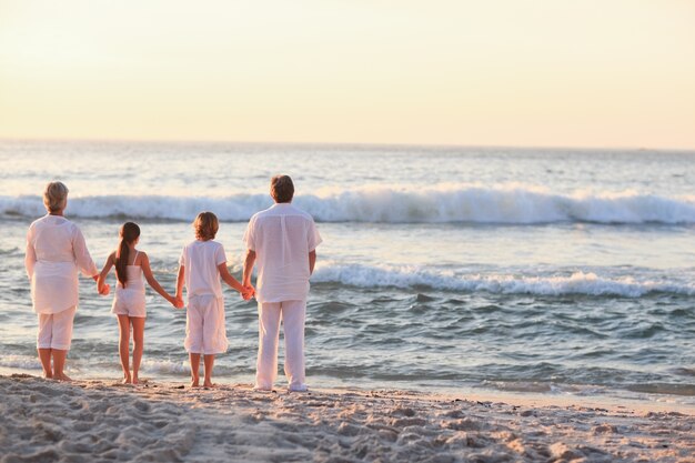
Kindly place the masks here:
<instances>
[{"instance_id":1,"label":"girl with long dark ponytail in white shorts and top","mask_svg":"<svg viewBox=\"0 0 695 463\"><path fill-rule=\"evenodd\" d=\"M144 319L147 316L142 275L144 274L150 286L160 293L162 298L171 302L173 306L177 306L177 301L162 289L152 275L148 254L135 249L135 245L140 241L140 227L133 222L125 222L121 225L119 234L121 236L119 249L113 251L107 259L107 263L99 274L97 284L99 291L101 291L101 288L104 285L104 280L111 271L111 266L115 265L118 285L111 313L115 313L119 320L119 353L121 356L121 365L123 366L123 383L138 384L138 371L140 370L144 342ZM132 376L130 375L128 355L130 350L131 325L133 329Z\"/></svg>"}]
</instances>

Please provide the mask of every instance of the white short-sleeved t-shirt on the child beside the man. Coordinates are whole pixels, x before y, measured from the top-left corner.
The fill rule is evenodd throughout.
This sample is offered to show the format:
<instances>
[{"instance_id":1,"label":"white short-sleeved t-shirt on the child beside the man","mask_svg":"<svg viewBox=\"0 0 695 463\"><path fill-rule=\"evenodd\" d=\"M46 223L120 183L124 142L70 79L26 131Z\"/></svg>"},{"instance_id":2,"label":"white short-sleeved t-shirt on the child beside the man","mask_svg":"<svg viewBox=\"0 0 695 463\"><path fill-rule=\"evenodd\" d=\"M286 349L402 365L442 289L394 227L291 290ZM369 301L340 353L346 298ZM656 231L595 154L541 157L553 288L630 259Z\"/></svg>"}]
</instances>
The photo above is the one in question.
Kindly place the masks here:
<instances>
[{"instance_id":1,"label":"white short-sleeved t-shirt on the child beside the man","mask_svg":"<svg viewBox=\"0 0 695 463\"><path fill-rule=\"evenodd\" d=\"M179 264L185 268L185 292L194 295L222 298L222 283L218 265L226 262L224 248L216 241L195 240L183 246Z\"/></svg>"}]
</instances>

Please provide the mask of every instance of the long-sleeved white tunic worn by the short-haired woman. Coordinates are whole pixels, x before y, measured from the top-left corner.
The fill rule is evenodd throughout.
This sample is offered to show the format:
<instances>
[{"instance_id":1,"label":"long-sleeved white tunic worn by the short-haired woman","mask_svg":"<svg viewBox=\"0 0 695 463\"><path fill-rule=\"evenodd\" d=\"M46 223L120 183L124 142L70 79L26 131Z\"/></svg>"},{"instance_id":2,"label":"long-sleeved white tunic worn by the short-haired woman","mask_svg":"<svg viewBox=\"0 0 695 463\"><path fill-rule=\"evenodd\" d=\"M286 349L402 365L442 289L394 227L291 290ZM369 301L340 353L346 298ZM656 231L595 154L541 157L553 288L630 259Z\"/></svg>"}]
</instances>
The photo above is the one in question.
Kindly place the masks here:
<instances>
[{"instance_id":1,"label":"long-sleeved white tunic worn by the short-haired woman","mask_svg":"<svg viewBox=\"0 0 695 463\"><path fill-rule=\"evenodd\" d=\"M58 313L78 305L78 270L84 276L99 273L78 225L50 214L29 227L24 265L37 313Z\"/></svg>"}]
</instances>

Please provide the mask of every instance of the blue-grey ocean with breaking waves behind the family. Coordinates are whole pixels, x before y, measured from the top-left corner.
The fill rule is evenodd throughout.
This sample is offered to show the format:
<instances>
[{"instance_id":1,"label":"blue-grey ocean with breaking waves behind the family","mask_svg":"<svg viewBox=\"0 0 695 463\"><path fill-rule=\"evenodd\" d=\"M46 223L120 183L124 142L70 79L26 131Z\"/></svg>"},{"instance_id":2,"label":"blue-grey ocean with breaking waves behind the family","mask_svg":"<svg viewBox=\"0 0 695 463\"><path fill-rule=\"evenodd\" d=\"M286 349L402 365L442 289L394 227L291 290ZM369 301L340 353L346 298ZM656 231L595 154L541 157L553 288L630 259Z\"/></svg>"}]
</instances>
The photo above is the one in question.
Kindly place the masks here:
<instances>
[{"instance_id":1,"label":"blue-grey ocean with breaking waves behind the family","mask_svg":"<svg viewBox=\"0 0 695 463\"><path fill-rule=\"evenodd\" d=\"M48 181L98 266L135 221L173 292L204 210L241 278L246 221L286 173L324 239L310 386L695 404L695 152L6 140L0 167L4 371L40 374L23 256ZM68 374L120 379L112 296L80 295ZM228 289L225 308L215 381L252 382L255 303ZM187 381L184 328L148 289L142 376Z\"/></svg>"}]
</instances>

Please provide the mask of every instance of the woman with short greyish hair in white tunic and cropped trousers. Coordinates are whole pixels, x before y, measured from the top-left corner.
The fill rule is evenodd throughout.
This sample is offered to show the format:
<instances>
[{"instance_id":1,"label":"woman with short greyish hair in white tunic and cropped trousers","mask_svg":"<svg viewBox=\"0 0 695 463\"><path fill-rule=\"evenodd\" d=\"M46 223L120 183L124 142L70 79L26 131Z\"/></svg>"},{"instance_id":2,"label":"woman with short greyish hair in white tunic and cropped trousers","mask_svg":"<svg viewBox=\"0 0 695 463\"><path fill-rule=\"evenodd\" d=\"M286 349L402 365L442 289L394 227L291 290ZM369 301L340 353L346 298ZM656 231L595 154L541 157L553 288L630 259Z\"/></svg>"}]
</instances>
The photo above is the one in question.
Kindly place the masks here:
<instances>
[{"instance_id":1,"label":"woman with short greyish hair in white tunic and cropped trousers","mask_svg":"<svg viewBox=\"0 0 695 463\"><path fill-rule=\"evenodd\" d=\"M87 250L82 232L63 217L68 187L62 182L47 184L43 205L48 214L29 227L24 259L33 311L39 318L37 350L44 378L70 381L63 368L78 308L78 271L97 281L99 270ZM102 294L109 291L105 285Z\"/></svg>"}]
</instances>

